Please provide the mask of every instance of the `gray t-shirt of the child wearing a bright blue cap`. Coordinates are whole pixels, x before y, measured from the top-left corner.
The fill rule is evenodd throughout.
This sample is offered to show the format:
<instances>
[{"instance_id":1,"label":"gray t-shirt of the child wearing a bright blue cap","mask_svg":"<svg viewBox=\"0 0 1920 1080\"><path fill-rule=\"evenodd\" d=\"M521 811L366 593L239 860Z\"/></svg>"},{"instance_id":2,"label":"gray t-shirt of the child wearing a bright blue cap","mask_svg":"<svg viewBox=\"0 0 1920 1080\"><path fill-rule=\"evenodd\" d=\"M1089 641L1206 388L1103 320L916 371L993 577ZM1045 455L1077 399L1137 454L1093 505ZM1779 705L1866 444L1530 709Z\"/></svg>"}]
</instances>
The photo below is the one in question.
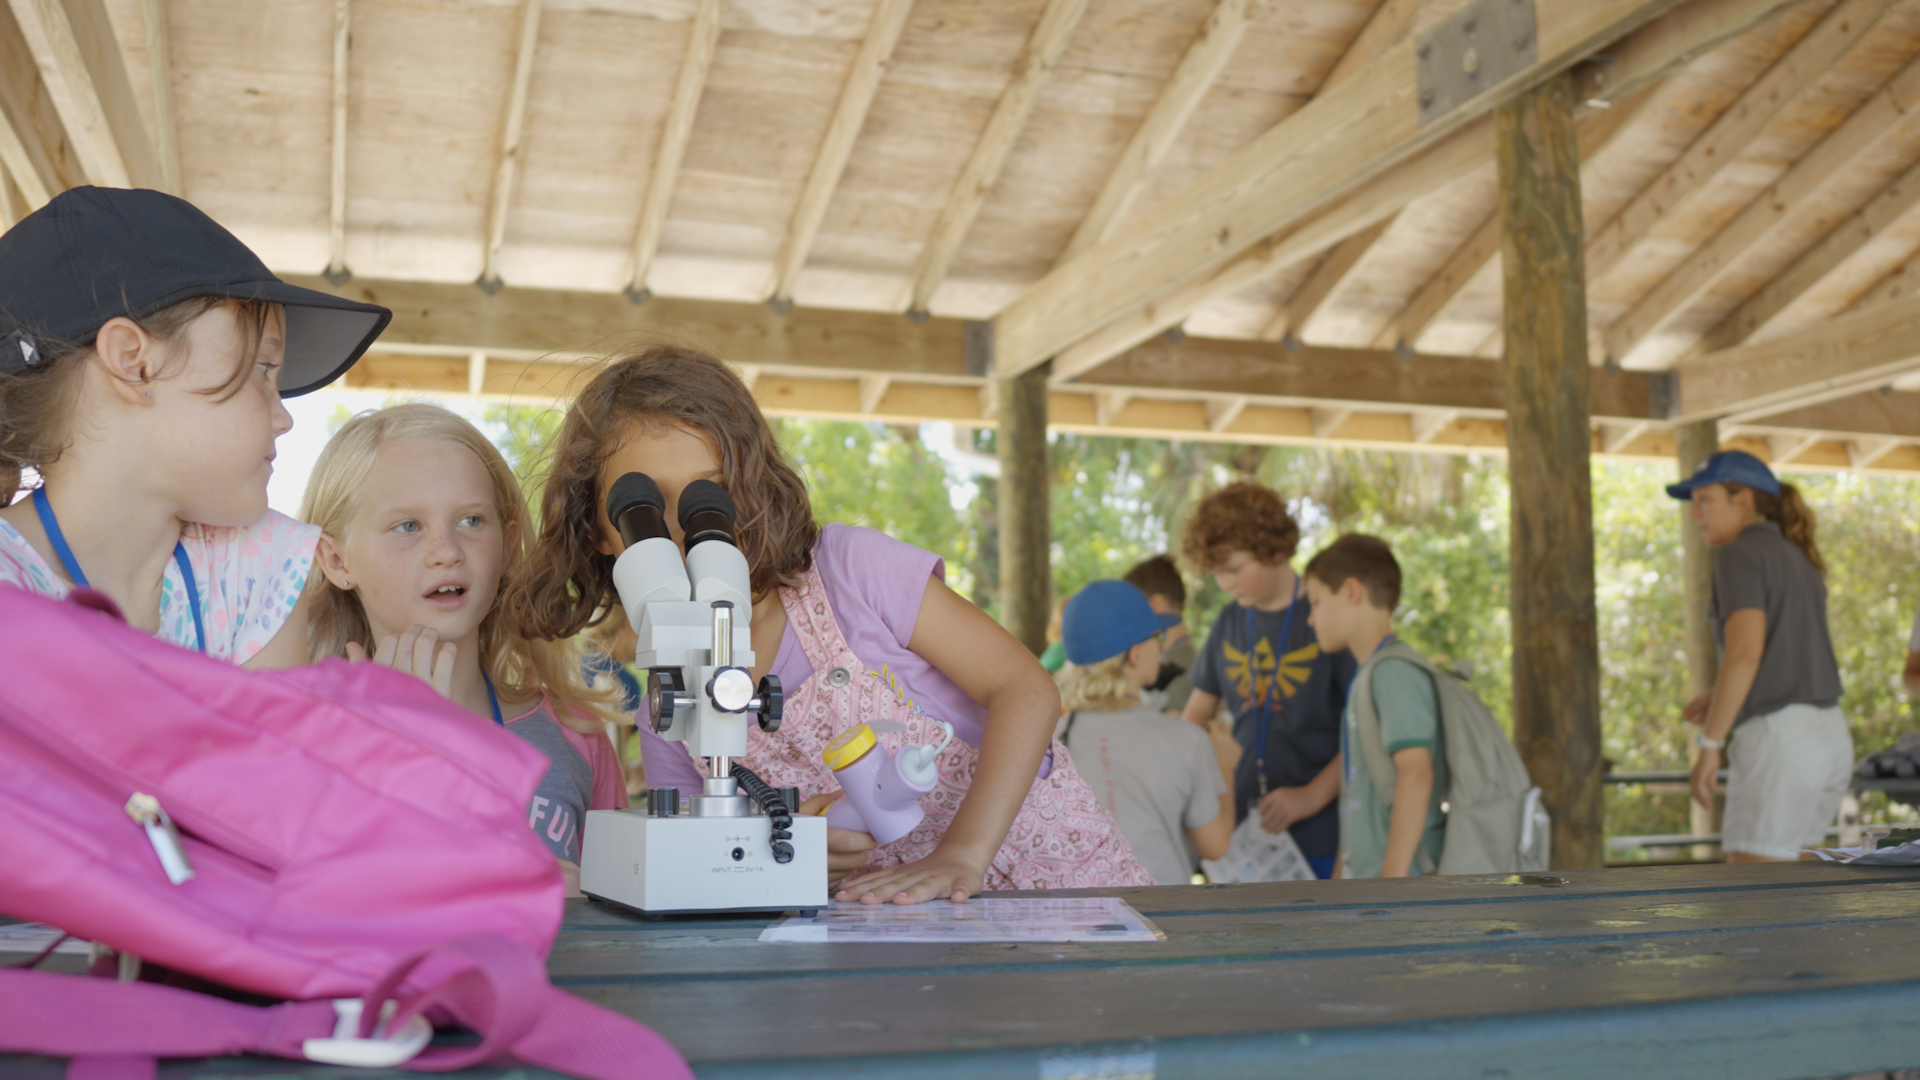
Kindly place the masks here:
<instances>
[{"instance_id":1,"label":"gray t-shirt of the child wearing a bright blue cap","mask_svg":"<svg viewBox=\"0 0 1920 1080\"><path fill-rule=\"evenodd\" d=\"M1192 880L1198 853L1187 830L1219 817L1219 798L1227 794L1206 732L1139 707L1075 713L1066 744L1073 767L1114 815L1154 884Z\"/></svg>"}]
</instances>

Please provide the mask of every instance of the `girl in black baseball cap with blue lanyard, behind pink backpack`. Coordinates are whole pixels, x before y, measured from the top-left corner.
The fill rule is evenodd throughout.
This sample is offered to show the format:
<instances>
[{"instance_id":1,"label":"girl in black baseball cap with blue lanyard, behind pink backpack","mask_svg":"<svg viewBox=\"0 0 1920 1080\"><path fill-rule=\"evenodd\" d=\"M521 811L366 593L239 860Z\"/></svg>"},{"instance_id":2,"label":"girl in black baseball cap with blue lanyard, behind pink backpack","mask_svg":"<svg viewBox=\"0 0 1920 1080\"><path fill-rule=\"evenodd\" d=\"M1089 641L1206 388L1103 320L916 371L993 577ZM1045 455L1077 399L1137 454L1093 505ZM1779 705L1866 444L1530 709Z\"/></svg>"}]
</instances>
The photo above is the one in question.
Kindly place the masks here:
<instances>
[{"instance_id":1,"label":"girl in black baseball cap with blue lanyard, behind pink backpack","mask_svg":"<svg viewBox=\"0 0 1920 1080\"><path fill-rule=\"evenodd\" d=\"M319 530L267 509L280 398L388 317L280 282L161 192L73 188L31 213L0 236L0 584L90 586L179 646L305 663Z\"/></svg>"}]
</instances>

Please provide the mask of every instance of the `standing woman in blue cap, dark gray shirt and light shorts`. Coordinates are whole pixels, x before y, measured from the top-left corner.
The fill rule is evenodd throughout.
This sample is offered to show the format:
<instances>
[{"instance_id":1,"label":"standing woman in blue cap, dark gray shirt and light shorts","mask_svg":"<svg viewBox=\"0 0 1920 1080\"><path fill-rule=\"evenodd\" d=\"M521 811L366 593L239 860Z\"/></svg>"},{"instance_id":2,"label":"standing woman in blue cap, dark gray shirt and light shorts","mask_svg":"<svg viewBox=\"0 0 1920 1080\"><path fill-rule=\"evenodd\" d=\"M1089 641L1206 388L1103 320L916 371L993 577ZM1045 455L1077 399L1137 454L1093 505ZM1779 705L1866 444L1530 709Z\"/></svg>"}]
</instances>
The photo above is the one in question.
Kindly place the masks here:
<instances>
[{"instance_id":1,"label":"standing woman in blue cap, dark gray shirt and light shorts","mask_svg":"<svg viewBox=\"0 0 1920 1080\"><path fill-rule=\"evenodd\" d=\"M1713 805L1720 753L1738 728L1720 847L1730 863L1797 859L1826 838L1853 774L1812 511L1740 450L1715 454L1667 494L1692 500L1715 550L1709 619L1720 675L1686 707L1699 724L1693 799Z\"/></svg>"}]
</instances>

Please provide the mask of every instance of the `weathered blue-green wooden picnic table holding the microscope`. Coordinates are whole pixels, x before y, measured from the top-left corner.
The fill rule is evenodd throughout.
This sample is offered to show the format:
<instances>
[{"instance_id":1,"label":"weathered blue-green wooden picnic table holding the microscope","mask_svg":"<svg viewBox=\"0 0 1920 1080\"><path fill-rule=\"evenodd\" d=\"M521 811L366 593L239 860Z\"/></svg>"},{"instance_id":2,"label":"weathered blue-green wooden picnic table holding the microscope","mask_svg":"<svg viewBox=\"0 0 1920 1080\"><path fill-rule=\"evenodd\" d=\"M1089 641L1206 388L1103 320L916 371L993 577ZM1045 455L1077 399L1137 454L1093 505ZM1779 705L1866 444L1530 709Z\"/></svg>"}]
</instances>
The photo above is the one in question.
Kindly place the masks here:
<instances>
[{"instance_id":1,"label":"weathered blue-green wooden picnic table holding the microscope","mask_svg":"<svg viewBox=\"0 0 1920 1080\"><path fill-rule=\"evenodd\" d=\"M649 922L572 901L549 970L666 1034L699 1076L728 1080L1791 1080L1920 1065L1920 871L1701 865L1100 894L1167 940L760 944L770 919ZM161 1070L261 1074L369 1076L284 1061ZM474 1070L513 1074L543 1076Z\"/></svg>"}]
</instances>

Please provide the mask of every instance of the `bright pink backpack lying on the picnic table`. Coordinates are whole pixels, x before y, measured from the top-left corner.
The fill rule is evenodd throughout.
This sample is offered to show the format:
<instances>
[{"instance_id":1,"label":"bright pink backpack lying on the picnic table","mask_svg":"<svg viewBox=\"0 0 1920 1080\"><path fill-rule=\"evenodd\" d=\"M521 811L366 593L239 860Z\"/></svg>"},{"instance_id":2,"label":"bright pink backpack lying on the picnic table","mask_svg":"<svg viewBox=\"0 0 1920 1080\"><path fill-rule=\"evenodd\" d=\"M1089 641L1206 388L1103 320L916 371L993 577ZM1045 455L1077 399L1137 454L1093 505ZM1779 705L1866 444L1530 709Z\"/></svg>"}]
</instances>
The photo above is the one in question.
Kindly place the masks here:
<instances>
[{"instance_id":1,"label":"bright pink backpack lying on the picnic table","mask_svg":"<svg viewBox=\"0 0 1920 1080\"><path fill-rule=\"evenodd\" d=\"M0 586L0 913L298 1005L261 1020L278 1043L196 1049L194 1024L121 1013L200 1017L211 1038L253 1022L240 1013L271 1011L8 970L0 1051L286 1053L290 1036L336 1034L346 1013L317 999L367 995L359 1036L380 1026L397 1038L424 1011L501 1028L476 1026L488 1055L589 1076L689 1076L653 1032L547 986L564 886L526 826L547 769L538 749L407 675L342 661L242 671L127 626L100 594L73 600ZM470 1001L482 984L493 1005ZM156 994L177 1001L156 1005ZM115 1019L50 1028L46 1003L63 995ZM495 1017L509 999L518 1011ZM378 1019L384 1001L399 1003L390 1020ZM154 1045L125 1045L148 1026ZM620 1061L612 1070L566 1049L609 1038L622 1045L605 1055ZM430 1049L413 1067L467 1065L478 1049Z\"/></svg>"}]
</instances>

